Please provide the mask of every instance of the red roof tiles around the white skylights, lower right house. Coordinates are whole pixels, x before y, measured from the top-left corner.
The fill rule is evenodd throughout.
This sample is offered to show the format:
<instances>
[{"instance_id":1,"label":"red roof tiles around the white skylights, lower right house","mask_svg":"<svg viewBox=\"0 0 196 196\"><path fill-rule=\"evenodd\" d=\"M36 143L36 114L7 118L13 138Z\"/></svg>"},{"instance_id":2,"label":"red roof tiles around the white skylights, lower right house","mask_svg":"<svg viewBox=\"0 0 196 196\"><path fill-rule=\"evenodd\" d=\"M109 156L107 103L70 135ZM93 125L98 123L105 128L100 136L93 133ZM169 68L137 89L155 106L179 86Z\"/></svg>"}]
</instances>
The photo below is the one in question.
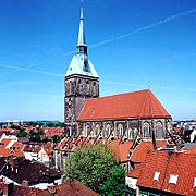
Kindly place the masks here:
<instances>
[{"instance_id":1,"label":"red roof tiles around the white skylights, lower right house","mask_svg":"<svg viewBox=\"0 0 196 196\"><path fill-rule=\"evenodd\" d=\"M194 177L196 177L196 156L183 152L152 151L147 154L137 172L137 185L180 195L196 195ZM137 169L138 170L138 169ZM134 172L134 170L133 170ZM132 171L128 176L132 176ZM155 172L160 172L158 181L154 181ZM169 183L170 174L179 175L176 184ZM135 177L133 173L133 177Z\"/></svg>"}]
</instances>

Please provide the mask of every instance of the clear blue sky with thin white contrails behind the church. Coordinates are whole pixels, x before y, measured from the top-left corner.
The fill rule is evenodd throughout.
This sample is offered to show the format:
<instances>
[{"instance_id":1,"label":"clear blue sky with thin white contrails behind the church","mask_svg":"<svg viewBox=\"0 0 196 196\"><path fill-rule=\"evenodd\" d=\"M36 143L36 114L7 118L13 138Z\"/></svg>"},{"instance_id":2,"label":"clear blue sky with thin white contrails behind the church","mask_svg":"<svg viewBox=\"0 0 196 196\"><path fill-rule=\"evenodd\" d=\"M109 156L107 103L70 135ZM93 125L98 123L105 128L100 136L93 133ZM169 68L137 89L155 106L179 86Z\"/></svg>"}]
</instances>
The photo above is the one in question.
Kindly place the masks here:
<instances>
[{"instance_id":1,"label":"clear blue sky with thin white contrails behind the church","mask_svg":"<svg viewBox=\"0 0 196 196\"><path fill-rule=\"evenodd\" d=\"M196 1L84 0L101 96L148 88L174 120L196 119ZM0 121L63 120L79 0L1 0Z\"/></svg>"}]
</instances>

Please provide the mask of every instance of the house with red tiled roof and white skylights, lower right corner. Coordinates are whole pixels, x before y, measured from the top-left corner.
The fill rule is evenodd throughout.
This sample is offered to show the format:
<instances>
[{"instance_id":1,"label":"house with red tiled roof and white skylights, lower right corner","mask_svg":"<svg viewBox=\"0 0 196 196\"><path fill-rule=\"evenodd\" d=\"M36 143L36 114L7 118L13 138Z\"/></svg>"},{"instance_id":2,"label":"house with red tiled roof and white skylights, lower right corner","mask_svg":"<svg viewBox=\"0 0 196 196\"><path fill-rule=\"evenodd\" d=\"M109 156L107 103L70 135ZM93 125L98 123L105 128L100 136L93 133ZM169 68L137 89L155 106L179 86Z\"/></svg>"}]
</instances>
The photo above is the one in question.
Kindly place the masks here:
<instances>
[{"instance_id":1,"label":"house with red tiled roof and white skylights, lower right corner","mask_svg":"<svg viewBox=\"0 0 196 196\"><path fill-rule=\"evenodd\" d=\"M172 150L155 150L126 176L125 194L196 195L196 156Z\"/></svg>"}]
</instances>

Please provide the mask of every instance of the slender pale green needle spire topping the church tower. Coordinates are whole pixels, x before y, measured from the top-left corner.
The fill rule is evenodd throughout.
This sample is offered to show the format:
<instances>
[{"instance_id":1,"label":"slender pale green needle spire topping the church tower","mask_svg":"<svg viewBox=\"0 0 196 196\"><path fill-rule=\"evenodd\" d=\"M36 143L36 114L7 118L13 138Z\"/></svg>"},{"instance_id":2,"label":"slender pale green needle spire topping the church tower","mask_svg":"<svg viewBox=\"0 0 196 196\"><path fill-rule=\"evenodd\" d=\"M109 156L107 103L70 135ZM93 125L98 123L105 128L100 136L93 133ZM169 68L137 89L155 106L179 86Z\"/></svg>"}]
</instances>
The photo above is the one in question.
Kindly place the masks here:
<instances>
[{"instance_id":1,"label":"slender pale green needle spire topping the church tower","mask_svg":"<svg viewBox=\"0 0 196 196\"><path fill-rule=\"evenodd\" d=\"M84 28L83 0L81 0L81 22L79 22L77 48L79 52L84 52L85 54L87 54L87 45L86 45L85 28Z\"/></svg>"}]
</instances>

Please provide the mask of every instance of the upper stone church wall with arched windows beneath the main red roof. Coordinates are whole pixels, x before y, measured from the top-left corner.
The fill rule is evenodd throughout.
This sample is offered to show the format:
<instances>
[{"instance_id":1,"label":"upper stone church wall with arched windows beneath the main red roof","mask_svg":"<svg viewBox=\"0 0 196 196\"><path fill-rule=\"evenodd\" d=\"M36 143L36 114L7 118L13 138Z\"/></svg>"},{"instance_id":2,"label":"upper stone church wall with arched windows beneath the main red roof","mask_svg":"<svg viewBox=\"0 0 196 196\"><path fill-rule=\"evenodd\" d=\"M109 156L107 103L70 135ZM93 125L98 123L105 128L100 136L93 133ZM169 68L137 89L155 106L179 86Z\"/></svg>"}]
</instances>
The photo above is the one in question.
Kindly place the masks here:
<instances>
[{"instance_id":1,"label":"upper stone church wall with arched windows beneath the main red roof","mask_svg":"<svg viewBox=\"0 0 196 196\"><path fill-rule=\"evenodd\" d=\"M137 134L144 139L167 138L167 130L172 126L171 119L136 119L136 120L103 120L78 122L78 135L90 138L113 138L133 140ZM149 126L147 126L149 125Z\"/></svg>"}]
</instances>

